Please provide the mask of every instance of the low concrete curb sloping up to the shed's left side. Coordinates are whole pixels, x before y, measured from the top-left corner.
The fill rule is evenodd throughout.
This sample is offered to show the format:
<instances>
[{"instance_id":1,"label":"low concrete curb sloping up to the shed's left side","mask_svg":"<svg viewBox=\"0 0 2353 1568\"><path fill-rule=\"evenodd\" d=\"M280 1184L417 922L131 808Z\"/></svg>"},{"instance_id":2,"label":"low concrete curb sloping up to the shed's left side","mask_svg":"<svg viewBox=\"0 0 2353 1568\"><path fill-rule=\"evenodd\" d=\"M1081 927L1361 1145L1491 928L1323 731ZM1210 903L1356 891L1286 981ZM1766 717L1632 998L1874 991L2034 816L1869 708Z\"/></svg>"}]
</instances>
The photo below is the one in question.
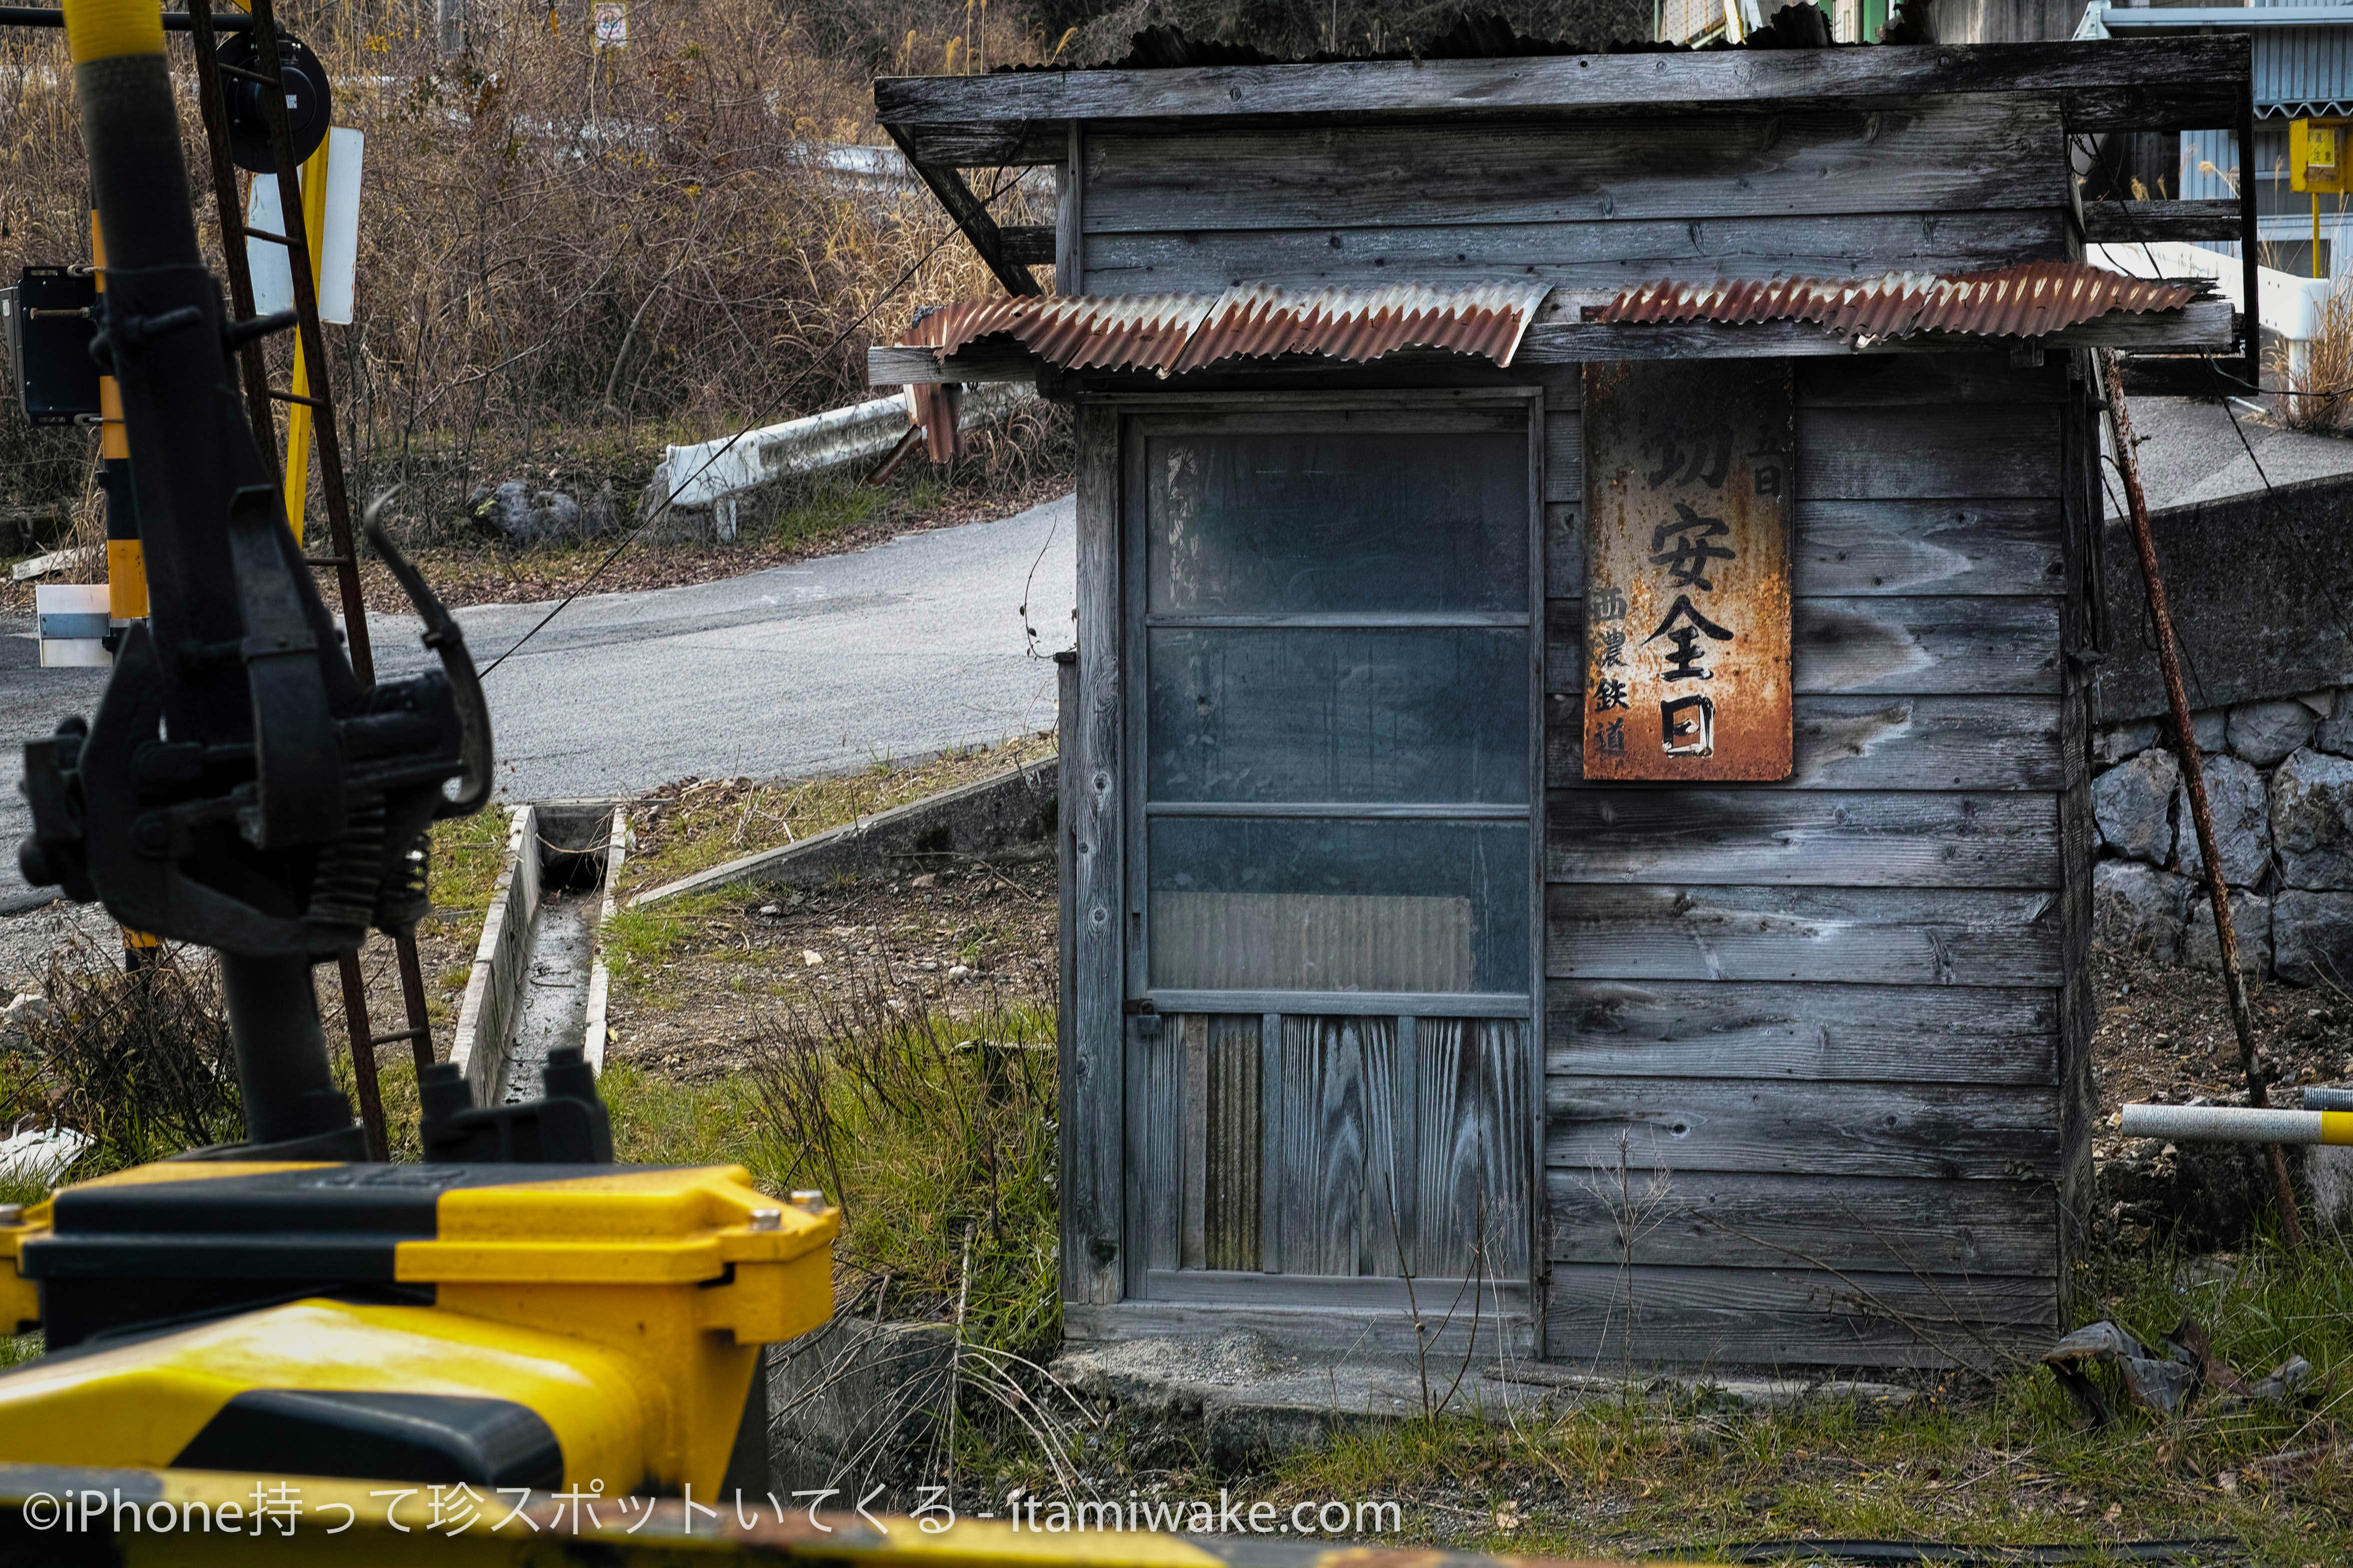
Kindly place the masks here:
<instances>
[{"instance_id":1,"label":"low concrete curb sloping up to the shed's left side","mask_svg":"<svg viewBox=\"0 0 2353 1568\"><path fill-rule=\"evenodd\" d=\"M828 827L784 849L762 849L727 865L666 882L631 898L628 907L725 886L821 882L835 872L878 863L920 865L1007 858L1024 851L1052 853L1059 778L1061 759L1042 757L1021 769L1007 769L856 823Z\"/></svg>"}]
</instances>

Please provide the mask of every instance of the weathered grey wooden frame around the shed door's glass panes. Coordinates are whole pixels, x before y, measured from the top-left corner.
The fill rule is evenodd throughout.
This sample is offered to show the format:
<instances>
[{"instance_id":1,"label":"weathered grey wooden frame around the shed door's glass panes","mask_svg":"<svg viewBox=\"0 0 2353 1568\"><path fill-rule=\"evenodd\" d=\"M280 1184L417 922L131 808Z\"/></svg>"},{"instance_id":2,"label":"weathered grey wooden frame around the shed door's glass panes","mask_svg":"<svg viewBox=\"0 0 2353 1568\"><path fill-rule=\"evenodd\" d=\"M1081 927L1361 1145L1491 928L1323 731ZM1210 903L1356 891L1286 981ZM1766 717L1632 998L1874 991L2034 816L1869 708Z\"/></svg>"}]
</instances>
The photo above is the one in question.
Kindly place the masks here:
<instances>
[{"instance_id":1,"label":"weathered grey wooden frame around the shed door's glass panes","mask_svg":"<svg viewBox=\"0 0 2353 1568\"><path fill-rule=\"evenodd\" d=\"M1264 430L1268 435L1280 435L1294 430L1297 416L1332 416L1332 414L1395 414L1412 418L1414 414L1445 414L1461 409L1522 409L1525 411L1525 449L1527 449L1527 609L1525 614L1461 614L1435 621L1438 625L1494 625L1494 628L1520 628L1525 625L1527 637L1527 806L1520 809L1447 809L1445 820L1525 820L1527 823L1527 990L1522 992L1172 992L1155 990L1151 985L1151 686L1148 686L1148 661L1146 661L1146 623L1148 623L1148 508L1146 496L1146 440L1162 430L1186 430L1214 423L1221 430ZM1254 395L1132 395L1118 400L1118 569L1120 569L1120 658L1125 668L1120 672L1120 745L1122 757L1122 783L1125 797L1129 802L1122 853L1122 954L1125 954L1125 1027L1122 1027L1122 1081L1125 1081L1125 1110L1120 1117L1122 1138L1129 1150L1136 1143L1136 1114L1141 1107L1141 1084L1139 1084L1139 1013L1148 1020L1167 1018L1172 1013L1304 1013L1304 1016L1400 1016L1400 1018L1508 1018L1522 1030L1522 1058L1529 1074L1525 1084L1529 1117L1527 1124L1515 1128L1518 1135L1527 1138L1527 1171L1529 1192L1522 1194L1527 1213L1527 1262L1529 1279L1525 1281L1501 1281L1518 1298L1518 1307L1529 1314L1529 1333L1537 1345L1541 1345L1541 1281L1548 1272L1544 1234L1546 1234L1546 1194L1544 1194L1544 907L1546 907L1546 884L1544 884L1544 830L1546 830L1546 689L1544 689L1544 661L1546 661L1546 508L1544 508L1544 463L1546 463L1546 397L1541 386L1504 386L1504 388L1447 388L1447 390L1398 390L1398 393L1254 393ZM1379 621L1379 614L1344 614L1337 616L1348 625L1362 628ZM1297 623L1297 618L1294 618ZM1398 618L1400 625L1431 625L1428 616ZM1219 816L1261 816L1249 811L1219 811ZM1268 811L1264 816L1280 816ZM1297 816L1297 813L1294 813ZM1322 813L1318 813L1322 816ZM1381 818L1381 816L1433 816L1431 811L1381 811L1379 806L1362 806L1355 811L1344 811L1339 816ZM1151 1027L1151 1025L1146 1025ZM1127 1237L1122 1241L1122 1253L1127 1258L1127 1288L1125 1295L1132 1300L1167 1300L1153 1298L1144 1288L1141 1260L1146 1248L1141 1246L1141 1227L1148 1222L1146 1199L1141 1194L1144 1161L1129 1154L1125 1161L1127 1178L1127 1201L1125 1201L1125 1225ZM1282 1300L1289 1305L1306 1305L1299 1298L1297 1286L1285 1288L1285 1276L1280 1274L1207 1274L1205 1281L1217 1281L1217 1291L1233 1300L1233 1305L1249 1305L1259 1291L1249 1288L1249 1281L1266 1281L1268 1300ZM1395 1305L1405 1305L1405 1291L1400 1279L1391 1276L1365 1276L1355 1281L1351 1298L1365 1298L1365 1302L1384 1302L1395 1286ZM1341 1302L1332 1302L1341 1305ZM1362 1302L1351 1302L1362 1305Z\"/></svg>"}]
</instances>

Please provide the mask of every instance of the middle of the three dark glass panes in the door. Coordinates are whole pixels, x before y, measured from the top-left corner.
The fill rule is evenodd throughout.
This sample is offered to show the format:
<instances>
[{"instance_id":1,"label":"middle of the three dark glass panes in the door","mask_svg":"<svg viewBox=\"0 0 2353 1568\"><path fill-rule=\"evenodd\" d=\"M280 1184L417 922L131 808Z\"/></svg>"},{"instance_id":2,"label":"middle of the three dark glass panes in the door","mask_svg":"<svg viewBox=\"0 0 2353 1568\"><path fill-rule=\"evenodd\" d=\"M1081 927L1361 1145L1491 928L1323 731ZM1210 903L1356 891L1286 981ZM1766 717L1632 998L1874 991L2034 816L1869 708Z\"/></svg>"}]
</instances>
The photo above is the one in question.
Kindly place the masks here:
<instances>
[{"instance_id":1,"label":"middle of the three dark glass panes in the door","mask_svg":"<svg viewBox=\"0 0 2353 1568\"><path fill-rule=\"evenodd\" d=\"M1151 799L1525 804L1527 637L1153 628Z\"/></svg>"}]
</instances>

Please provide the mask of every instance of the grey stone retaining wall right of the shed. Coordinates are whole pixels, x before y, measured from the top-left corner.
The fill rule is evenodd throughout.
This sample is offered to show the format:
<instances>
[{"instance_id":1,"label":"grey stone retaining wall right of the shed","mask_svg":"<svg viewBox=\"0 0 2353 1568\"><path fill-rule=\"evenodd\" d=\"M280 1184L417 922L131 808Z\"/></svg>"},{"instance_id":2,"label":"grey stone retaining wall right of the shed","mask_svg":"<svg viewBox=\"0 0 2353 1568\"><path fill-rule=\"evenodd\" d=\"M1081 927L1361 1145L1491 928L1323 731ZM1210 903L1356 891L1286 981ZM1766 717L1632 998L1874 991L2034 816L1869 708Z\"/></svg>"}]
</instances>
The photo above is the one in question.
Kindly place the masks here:
<instances>
[{"instance_id":1,"label":"grey stone retaining wall right of the shed","mask_svg":"<svg viewBox=\"0 0 2353 1568\"><path fill-rule=\"evenodd\" d=\"M2191 717L2247 971L2353 990L2353 689ZM2092 764L2099 940L2219 969L2198 830L2160 722L2097 731Z\"/></svg>"}]
</instances>

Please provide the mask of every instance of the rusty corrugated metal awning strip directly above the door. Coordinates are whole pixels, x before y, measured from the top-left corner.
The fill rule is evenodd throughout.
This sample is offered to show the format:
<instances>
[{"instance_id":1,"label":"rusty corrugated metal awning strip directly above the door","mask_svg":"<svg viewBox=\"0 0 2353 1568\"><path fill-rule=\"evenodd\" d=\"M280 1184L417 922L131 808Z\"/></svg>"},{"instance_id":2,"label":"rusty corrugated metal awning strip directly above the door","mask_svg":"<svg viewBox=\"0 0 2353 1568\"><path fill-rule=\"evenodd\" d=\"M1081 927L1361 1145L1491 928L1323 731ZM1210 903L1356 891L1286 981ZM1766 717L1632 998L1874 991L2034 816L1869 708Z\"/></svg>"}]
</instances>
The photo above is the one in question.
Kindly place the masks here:
<instances>
[{"instance_id":1,"label":"rusty corrugated metal awning strip directly above the door","mask_svg":"<svg viewBox=\"0 0 2353 1568\"><path fill-rule=\"evenodd\" d=\"M946 360L965 343L1007 334L1064 369L1151 369L1162 376L1219 360L1327 355L1379 360L1398 348L1452 348L1511 364L1551 284L1478 289L1278 289L1224 294L1111 294L967 299L932 310L899 339Z\"/></svg>"}]
</instances>

